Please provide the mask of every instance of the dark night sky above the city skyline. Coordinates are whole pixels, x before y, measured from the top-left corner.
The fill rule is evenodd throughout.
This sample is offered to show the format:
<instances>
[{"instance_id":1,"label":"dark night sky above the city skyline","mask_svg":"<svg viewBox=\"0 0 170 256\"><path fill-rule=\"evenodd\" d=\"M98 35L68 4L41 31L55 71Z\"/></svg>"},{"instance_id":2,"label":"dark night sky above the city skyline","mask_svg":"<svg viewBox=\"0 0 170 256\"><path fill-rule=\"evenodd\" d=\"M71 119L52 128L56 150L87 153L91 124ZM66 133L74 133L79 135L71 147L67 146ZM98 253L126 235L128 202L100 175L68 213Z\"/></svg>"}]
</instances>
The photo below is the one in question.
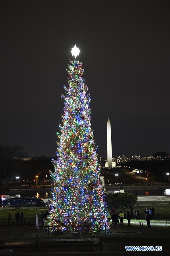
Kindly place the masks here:
<instances>
[{"instance_id":1,"label":"dark night sky above the city skyline","mask_svg":"<svg viewBox=\"0 0 170 256\"><path fill-rule=\"evenodd\" d=\"M55 156L79 47L98 154L170 152L169 1L1 1L1 144Z\"/></svg>"}]
</instances>

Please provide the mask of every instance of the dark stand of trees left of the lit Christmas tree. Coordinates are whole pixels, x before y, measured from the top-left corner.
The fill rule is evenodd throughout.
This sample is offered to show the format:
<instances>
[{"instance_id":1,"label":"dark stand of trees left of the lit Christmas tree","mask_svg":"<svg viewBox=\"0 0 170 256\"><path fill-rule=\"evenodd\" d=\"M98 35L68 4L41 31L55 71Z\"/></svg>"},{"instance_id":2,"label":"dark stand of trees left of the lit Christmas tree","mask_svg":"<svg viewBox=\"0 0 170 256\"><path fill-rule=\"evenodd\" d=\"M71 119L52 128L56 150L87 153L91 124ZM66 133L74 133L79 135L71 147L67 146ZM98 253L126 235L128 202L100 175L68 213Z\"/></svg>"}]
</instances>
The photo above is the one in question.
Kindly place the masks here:
<instances>
[{"instance_id":1,"label":"dark stand of trees left of the lit Christmas tree","mask_svg":"<svg viewBox=\"0 0 170 256\"><path fill-rule=\"evenodd\" d=\"M51 158L44 155L35 156L25 161L28 154L21 146L0 145L0 186L7 187L16 176L21 179L35 179L35 175L44 177L49 170L54 171Z\"/></svg>"}]
</instances>

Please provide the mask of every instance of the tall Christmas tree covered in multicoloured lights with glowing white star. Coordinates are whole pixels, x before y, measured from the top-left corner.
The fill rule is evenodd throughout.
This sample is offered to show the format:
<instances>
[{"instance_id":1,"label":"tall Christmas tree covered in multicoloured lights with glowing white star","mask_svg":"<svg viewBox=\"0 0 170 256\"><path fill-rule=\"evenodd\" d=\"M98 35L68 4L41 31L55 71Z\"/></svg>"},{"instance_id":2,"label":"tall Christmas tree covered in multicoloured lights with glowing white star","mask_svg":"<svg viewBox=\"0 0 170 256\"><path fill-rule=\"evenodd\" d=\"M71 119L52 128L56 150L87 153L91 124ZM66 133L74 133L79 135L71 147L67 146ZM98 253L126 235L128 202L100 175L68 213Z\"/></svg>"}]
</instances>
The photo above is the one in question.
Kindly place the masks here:
<instances>
[{"instance_id":1,"label":"tall Christmas tree covered in multicoloured lights with glowing white star","mask_svg":"<svg viewBox=\"0 0 170 256\"><path fill-rule=\"evenodd\" d=\"M72 48L75 60L68 65L68 85L64 86L64 114L59 125L57 160L53 160L51 211L46 224L51 231L73 230L85 221L93 231L107 223L103 204L93 131L91 130L90 94L83 79L82 63L76 60L79 48ZM77 227L78 228L78 227Z\"/></svg>"}]
</instances>

